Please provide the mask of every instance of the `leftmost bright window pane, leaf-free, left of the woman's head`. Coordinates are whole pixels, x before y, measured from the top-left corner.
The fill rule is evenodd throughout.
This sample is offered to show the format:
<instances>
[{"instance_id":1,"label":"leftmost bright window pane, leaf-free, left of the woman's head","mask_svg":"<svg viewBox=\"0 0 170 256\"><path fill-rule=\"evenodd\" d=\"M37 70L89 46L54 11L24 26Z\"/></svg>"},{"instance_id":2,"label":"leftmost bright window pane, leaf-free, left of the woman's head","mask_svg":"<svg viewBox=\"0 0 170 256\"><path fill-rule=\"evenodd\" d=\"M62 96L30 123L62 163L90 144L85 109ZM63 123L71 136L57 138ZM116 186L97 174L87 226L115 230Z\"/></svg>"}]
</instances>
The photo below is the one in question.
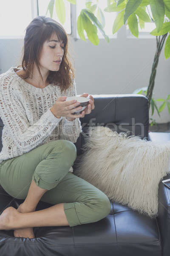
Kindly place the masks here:
<instances>
[{"instance_id":1,"label":"leftmost bright window pane, leaf-free, left of the woman's head","mask_svg":"<svg viewBox=\"0 0 170 256\"><path fill-rule=\"evenodd\" d=\"M31 0L0 0L1 37L24 36L31 20Z\"/></svg>"}]
</instances>

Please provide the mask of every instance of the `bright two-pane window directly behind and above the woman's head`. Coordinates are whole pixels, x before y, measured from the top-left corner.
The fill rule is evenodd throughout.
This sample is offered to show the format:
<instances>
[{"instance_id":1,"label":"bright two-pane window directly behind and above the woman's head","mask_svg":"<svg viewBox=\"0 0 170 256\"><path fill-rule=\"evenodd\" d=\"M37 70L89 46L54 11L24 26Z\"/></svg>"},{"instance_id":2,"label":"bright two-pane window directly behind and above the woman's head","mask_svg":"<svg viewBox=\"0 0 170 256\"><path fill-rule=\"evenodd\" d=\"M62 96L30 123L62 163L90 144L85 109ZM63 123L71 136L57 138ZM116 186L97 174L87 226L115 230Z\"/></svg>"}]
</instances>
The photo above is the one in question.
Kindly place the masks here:
<instances>
[{"instance_id":1,"label":"bright two-pane window directly behind and above the woman's head","mask_svg":"<svg viewBox=\"0 0 170 256\"><path fill-rule=\"evenodd\" d=\"M0 38L24 38L26 27L39 16L50 17L49 11L46 14L50 0L0 0ZM67 34L71 34L71 8L70 3L65 3L65 23L59 21L55 5L53 19L57 20L65 29ZM37 8L38 5L38 8Z\"/></svg>"}]
</instances>

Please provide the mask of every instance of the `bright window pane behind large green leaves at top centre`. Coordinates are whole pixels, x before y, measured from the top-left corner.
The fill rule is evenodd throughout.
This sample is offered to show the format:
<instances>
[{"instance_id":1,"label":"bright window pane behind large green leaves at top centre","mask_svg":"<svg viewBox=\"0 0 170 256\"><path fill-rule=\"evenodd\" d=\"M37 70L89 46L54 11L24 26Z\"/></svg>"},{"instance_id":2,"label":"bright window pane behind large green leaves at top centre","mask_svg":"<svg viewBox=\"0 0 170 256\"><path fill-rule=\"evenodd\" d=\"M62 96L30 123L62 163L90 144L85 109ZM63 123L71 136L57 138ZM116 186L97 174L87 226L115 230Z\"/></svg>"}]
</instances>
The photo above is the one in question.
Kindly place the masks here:
<instances>
[{"instance_id":1,"label":"bright window pane behind large green leaves at top centre","mask_svg":"<svg viewBox=\"0 0 170 256\"><path fill-rule=\"evenodd\" d=\"M93 5L94 5L94 3L92 4L92 6ZM116 38L117 33L114 35L112 34L113 23L116 18L116 15L117 15L116 12L105 12L104 11L104 9L107 7L107 0L99 0L98 6L102 10L102 12L105 16L105 27L104 27L105 34L108 35L109 38ZM86 9L85 1L77 1L77 11L76 11L77 18L79 17L82 9ZM97 10L98 10L98 8L96 8L96 11L94 13L95 16L97 15ZM88 38L85 30L84 30L84 34L85 34L85 38ZM104 36L102 35L102 33L100 32L99 29L97 29L97 35L99 38L104 38ZM77 38L80 38L78 31L77 31Z\"/></svg>"}]
</instances>

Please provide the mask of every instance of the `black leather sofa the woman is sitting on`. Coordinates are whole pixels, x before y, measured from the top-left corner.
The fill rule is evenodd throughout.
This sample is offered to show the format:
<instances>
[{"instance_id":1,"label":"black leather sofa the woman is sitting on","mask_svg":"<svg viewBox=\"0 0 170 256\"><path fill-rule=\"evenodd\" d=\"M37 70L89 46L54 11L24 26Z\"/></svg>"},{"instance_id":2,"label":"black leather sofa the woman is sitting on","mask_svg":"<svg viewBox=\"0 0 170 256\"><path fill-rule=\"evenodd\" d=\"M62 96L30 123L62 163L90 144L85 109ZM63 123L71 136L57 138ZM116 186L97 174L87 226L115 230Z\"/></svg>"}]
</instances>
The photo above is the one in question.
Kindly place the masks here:
<instances>
[{"instance_id":1,"label":"black leather sofa the woman is sitting on","mask_svg":"<svg viewBox=\"0 0 170 256\"><path fill-rule=\"evenodd\" d=\"M80 119L82 133L75 143L77 155L82 153L81 146L91 125L107 125L118 133L128 130L129 135L141 135L150 140L148 99L145 96L93 96L95 109ZM2 120L0 126L2 136ZM12 198L0 188L1 212L9 206L17 209L23 201ZM36 210L48 207L51 204L40 201ZM110 214L100 221L75 227L34 227L34 234L34 239L15 238L13 230L0 230L0 256L169 256L170 190L160 182L159 216L154 219L127 205L111 202Z\"/></svg>"}]
</instances>

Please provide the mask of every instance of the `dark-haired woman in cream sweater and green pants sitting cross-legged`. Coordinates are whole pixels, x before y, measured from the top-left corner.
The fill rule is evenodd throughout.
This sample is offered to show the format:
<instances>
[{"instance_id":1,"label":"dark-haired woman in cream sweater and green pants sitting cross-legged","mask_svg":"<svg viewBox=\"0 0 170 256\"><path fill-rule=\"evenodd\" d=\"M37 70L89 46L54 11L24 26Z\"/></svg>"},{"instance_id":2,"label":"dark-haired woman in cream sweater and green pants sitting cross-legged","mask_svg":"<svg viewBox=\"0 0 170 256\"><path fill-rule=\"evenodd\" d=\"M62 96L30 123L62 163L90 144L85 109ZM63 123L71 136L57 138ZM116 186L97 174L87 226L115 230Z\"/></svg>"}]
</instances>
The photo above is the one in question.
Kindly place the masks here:
<instances>
[{"instance_id":1,"label":"dark-haired woman in cream sweater and green pants sitting cross-legged","mask_svg":"<svg viewBox=\"0 0 170 256\"><path fill-rule=\"evenodd\" d=\"M0 230L14 229L15 237L34 238L33 227L99 221L110 212L108 197L71 173L82 131L79 117L91 113L94 98L89 96L81 114L73 114L81 107L65 101L77 95L67 55L64 28L38 16L26 29L22 69L11 67L0 75L0 184L9 195L25 199L18 209L3 210ZM40 200L54 205L36 211Z\"/></svg>"}]
</instances>

